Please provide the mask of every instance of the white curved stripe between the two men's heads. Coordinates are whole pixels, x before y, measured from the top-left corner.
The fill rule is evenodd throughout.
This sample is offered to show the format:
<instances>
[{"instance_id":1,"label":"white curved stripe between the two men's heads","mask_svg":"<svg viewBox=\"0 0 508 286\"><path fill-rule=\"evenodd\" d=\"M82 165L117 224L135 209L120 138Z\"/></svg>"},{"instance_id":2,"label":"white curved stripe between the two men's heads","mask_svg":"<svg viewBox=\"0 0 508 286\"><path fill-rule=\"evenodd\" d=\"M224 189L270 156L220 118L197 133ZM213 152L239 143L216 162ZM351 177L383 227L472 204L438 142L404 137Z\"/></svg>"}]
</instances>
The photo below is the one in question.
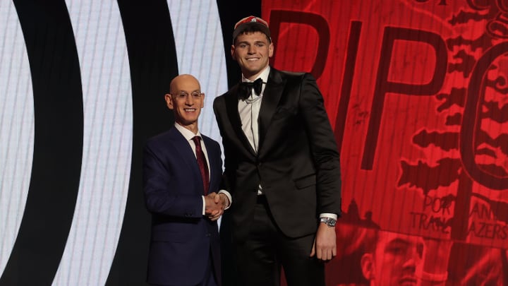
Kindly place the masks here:
<instances>
[{"instance_id":1,"label":"white curved stripe between the two men's heads","mask_svg":"<svg viewBox=\"0 0 508 286\"><path fill-rule=\"evenodd\" d=\"M169 0L179 73L191 73L201 83L205 107L200 132L222 142L213 113L213 100L227 91L224 42L216 1Z\"/></svg>"}]
</instances>

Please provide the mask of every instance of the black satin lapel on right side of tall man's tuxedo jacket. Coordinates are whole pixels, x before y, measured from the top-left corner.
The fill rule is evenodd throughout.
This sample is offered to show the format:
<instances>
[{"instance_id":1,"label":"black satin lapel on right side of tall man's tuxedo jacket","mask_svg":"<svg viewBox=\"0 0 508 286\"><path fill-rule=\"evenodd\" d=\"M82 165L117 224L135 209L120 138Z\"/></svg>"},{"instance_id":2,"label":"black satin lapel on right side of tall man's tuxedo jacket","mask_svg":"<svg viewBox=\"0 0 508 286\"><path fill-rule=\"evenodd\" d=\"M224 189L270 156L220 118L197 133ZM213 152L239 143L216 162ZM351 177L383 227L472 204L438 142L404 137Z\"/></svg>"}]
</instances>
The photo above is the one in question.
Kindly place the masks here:
<instances>
[{"instance_id":1,"label":"black satin lapel on right side of tall man's tuxedo jacket","mask_svg":"<svg viewBox=\"0 0 508 286\"><path fill-rule=\"evenodd\" d=\"M284 85L285 81L282 79L279 71L275 68L271 68L265 92L262 96L261 109L258 119L259 152L261 152L263 143L265 143L268 126L270 126L275 110L277 110L277 105L279 105L279 100L282 96L282 92L284 91Z\"/></svg>"}]
</instances>

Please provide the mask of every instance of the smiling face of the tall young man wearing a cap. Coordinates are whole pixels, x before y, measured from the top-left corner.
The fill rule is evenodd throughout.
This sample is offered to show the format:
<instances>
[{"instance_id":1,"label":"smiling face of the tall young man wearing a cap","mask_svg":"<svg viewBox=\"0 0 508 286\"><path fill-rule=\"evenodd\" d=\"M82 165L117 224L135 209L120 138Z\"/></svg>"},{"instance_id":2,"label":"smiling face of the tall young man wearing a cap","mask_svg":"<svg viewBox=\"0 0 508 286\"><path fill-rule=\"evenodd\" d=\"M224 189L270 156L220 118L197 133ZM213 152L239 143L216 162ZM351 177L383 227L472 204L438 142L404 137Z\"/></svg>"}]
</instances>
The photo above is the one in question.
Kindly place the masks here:
<instances>
[{"instance_id":1,"label":"smiling face of the tall young man wearing a cap","mask_svg":"<svg viewBox=\"0 0 508 286\"><path fill-rule=\"evenodd\" d=\"M273 43L263 32L241 34L231 46L231 56L238 61L243 76L255 80L273 56Z\"/></svg>"}]
</instances>

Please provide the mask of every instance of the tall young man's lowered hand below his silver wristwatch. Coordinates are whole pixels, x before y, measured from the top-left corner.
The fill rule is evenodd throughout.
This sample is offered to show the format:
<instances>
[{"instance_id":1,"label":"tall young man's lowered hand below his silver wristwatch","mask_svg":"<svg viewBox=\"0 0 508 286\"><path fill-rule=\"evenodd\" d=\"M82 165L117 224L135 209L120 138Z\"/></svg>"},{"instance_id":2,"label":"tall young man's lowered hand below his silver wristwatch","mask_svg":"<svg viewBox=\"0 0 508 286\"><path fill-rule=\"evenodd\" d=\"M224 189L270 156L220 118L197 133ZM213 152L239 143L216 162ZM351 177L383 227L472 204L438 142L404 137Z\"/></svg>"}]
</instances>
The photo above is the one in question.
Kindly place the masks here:
<instances>
[{"instance_id":1,"label":"tall young man's lowered hand below his silver wristwatch","mask_svg":"<svg viewBox=\"0 0 508 286\"><path fill-rule=\"evenodd\" d=\"M332 260L337 255L336 239L335 227L329 227L325 223L320 222L319 227L317 227L310 257L316 256L317 259L323 262Z\"/></svg>"}]
</instances>

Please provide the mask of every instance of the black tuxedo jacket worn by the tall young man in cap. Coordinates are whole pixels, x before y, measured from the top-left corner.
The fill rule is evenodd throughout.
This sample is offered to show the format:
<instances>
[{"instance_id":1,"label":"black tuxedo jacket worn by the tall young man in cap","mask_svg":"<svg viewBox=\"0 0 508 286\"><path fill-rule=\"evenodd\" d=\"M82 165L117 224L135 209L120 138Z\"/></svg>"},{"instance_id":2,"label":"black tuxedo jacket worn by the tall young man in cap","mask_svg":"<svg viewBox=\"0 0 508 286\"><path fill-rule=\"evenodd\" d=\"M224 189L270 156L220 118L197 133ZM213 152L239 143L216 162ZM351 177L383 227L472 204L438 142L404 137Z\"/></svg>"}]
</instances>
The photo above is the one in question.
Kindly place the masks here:
<instances>
[{"instance_id":1,"label":"black tuxedo jacket worn by the tall young man in cap","mask_svg":"<svg viewBox=\"0 0 508 286\"><path fill-rule=\"evenodd\" d=\"M241 129L237 93L235 85L214 100L234 238L248 235L259 184L288 237L315 232L320 213L340 215L339 153L313 76L271 68L258 119L258 153Z\"/></svg>"}]
</instances>

